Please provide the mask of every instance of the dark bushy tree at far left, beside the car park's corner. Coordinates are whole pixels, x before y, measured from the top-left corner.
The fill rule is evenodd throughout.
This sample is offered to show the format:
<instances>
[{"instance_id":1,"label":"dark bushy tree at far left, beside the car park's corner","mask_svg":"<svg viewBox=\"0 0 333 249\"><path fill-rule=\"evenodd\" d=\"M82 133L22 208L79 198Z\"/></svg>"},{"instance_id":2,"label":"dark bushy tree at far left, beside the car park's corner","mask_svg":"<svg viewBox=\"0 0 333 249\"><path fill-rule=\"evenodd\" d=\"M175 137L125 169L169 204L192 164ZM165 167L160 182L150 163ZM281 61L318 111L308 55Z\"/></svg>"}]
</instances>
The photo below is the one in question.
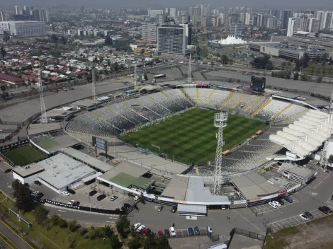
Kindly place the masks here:
<instances>
[{"instance_id":1,"label":"dark bushy tree at far left, beside the car park's corner","mask_svg":"<svg viewBox=\"0 0 333 249\"><path fill-rule=\"evenodd\" d=\"M29 188L23 185L19 180L14 180L11 183L13 188L13 197L16 199L15 207L23 212L29 212L33 209L33 199L29 197Z\"/></svg>"}]
</instances>

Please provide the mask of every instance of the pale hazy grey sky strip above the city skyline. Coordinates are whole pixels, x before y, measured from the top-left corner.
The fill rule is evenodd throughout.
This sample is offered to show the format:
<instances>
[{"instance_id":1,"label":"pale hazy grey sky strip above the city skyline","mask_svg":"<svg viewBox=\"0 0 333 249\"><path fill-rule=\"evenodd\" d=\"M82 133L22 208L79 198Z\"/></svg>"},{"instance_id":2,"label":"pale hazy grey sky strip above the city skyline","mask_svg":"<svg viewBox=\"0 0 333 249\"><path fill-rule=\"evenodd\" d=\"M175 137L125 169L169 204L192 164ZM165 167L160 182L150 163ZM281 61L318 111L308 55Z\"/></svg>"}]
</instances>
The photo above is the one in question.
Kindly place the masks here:
<instances>
[{"instance_id":1,"label":"pale hazy grey sky strip above the city skyline","mask_svg":"<svg viewBox=\"0 0 333 249\"><path fill-rule=\"evenodd\" d=\"M1 3L2 4L2 3ZM0 5L1 5L0 4ZM279 1L264 1L264 0L14 0L10 1L10 4L15 5L30 5L30 6L59 6L59 5L71 5L71 6L110 6L111 8L118 8L120 6L124 7L133 7L133 6L164 6L165 4L168 7L173 6L194 6L196 4L210 4L213 6L229 6L229 5L241 5L241 6L252 6L256 8L315 8L322 10L333 10L333 1L332 0L279 0ZM6 2L6 5L9 5L9 2Z\"/></svg>"}]
</instances>

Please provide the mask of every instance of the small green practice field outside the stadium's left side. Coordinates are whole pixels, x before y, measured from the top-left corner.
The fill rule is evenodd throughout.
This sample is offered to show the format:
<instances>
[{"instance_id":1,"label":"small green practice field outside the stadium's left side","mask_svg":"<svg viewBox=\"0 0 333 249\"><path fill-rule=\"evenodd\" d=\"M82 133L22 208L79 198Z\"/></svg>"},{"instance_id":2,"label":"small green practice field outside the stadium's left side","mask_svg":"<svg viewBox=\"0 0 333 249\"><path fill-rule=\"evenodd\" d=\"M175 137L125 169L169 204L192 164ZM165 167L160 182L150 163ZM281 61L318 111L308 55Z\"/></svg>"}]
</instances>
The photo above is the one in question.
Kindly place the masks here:
<instances>
[{"instance_id":1,"label":"small green practice field outside the stadium's left side","mask_svg":"<svg viewBox=\"0 0 333 249\"><path fill-rule=\"evenodd\" d=\"M11 151L4 152L13 163L18 166L24 166L34 161L45 158L44 154L31 146L24 146L17 149L12 149Z\"/></svg>"}]
</instances>

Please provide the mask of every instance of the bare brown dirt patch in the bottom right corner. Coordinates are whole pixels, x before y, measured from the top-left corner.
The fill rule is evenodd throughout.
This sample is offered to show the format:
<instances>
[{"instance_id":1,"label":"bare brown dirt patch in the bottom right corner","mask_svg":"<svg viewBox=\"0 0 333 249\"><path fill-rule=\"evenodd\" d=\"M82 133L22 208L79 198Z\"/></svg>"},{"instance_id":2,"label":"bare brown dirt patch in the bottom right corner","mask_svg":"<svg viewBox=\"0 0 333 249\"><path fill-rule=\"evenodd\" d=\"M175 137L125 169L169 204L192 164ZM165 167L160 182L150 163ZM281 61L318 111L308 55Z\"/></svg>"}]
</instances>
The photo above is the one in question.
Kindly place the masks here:
<instances>
[{"instance_id":1,"label":"bare brown dirt patch in the bottom right corner","mask_svg":"<svg viewBox=\"0 0 333 249\"><path fill-rule=\"evenodd\" d=\"M299 226L273 233L267 238L266 249L332 249L333 216L325 216Z\"/></svg>"}]
</instances>

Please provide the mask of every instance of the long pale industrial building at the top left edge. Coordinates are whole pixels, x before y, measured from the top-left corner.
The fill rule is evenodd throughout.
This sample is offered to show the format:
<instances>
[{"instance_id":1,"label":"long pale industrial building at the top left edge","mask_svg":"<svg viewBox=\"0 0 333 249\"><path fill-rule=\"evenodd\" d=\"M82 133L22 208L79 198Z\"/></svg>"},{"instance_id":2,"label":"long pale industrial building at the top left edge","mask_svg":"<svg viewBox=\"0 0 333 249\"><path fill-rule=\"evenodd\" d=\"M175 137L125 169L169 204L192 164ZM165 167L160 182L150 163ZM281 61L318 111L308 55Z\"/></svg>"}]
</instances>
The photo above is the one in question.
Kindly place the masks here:
<instances>
[{"instance_id":1,"label":"long pale industrial building at the top left edge","mask_svg":"<svg viewBox=\"0 0 333 249\"><path fill-rule=\"evenodd\" d=\"M16 37L32 37L46 35L45 22L39 21L8 21L0 22L0 30L7 31Z\"/></svg>"}]
</instances>

